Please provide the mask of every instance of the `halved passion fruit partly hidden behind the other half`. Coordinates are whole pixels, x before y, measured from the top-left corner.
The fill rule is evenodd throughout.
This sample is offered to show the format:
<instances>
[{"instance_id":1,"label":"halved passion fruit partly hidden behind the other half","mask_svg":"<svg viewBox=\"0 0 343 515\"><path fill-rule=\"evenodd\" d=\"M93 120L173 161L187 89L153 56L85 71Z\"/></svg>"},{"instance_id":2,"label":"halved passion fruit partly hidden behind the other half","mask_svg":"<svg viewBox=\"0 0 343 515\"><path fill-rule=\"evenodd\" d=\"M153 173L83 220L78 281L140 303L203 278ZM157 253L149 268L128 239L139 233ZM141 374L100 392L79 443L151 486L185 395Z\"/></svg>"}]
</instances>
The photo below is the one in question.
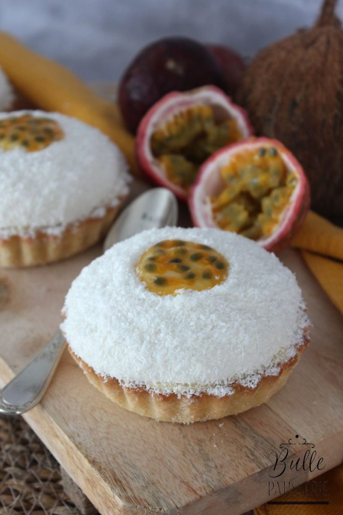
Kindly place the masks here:
<instances>
[{"instance_id":1,"label":"halved passion fruit partly hidden behind the other half","mask_svg":"<svg viewBox=\"0 0 343 515\"><path fill-rule=\"evenodd\" d=\"M215 86L168 93L138 127L138 163L155 183L186 200L202 163L251 134L245 111Z\"/></svg>"}]
</instances>

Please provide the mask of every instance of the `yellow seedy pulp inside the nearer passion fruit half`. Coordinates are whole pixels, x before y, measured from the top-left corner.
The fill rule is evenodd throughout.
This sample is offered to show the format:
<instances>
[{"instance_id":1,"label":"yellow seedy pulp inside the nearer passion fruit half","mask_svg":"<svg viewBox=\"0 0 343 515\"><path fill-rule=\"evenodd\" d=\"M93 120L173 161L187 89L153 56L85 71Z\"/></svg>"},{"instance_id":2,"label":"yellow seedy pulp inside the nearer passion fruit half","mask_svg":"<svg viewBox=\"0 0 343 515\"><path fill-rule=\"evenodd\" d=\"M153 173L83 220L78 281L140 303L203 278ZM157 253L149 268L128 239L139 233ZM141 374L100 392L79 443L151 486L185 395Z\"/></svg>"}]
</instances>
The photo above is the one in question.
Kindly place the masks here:
<instances>
[{"instance_id":1,"label":"yellow seedy pulp inside the nearer passion fruit half","mask_svg":"<svg viewBox=\"0 0 343 515\"><path fill-rule=\"evenodd\" d=\"M220 228L251 239L270 236L298 183L273 146L245 150L220 170L224 189L211 197Z\"/></svg>"}]
</instances>

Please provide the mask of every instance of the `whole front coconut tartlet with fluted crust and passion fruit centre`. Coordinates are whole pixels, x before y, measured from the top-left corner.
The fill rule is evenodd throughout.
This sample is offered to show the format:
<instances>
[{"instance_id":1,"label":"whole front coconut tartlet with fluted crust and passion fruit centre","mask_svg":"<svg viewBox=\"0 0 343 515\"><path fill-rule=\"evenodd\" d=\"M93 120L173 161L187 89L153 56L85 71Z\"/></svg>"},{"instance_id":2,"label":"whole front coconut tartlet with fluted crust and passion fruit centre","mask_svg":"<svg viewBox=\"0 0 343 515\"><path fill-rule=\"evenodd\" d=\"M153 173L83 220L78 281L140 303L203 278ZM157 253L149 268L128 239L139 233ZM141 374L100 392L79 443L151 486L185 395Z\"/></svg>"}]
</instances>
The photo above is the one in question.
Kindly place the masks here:
<instances>
[{"instance_id":1,"label":"whole front coconut tartlet with fluted crust and passion fruit centre","mask_svg":"<svg viewBox=\"0 0 343 515\"><path fill-rule=\"evenodd\" d=\"M93 385L172 422L266 402L310 342L294 274L217 229L152 229L114 245L71 284L63 315L71 355Z\"/></svg>"}]
</instances>

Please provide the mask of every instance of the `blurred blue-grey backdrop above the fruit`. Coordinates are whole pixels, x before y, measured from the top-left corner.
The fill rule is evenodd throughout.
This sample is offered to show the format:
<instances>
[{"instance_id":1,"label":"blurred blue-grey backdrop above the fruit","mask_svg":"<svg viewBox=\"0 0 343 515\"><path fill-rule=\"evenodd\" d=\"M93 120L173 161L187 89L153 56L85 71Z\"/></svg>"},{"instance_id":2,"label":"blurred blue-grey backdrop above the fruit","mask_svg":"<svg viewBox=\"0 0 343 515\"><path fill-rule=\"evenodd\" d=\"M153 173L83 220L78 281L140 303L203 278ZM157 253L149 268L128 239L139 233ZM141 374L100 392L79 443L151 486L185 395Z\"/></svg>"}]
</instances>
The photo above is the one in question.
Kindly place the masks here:
<instances>
[{"instance_id":1,"label":"blurred blue-grey backdrop above the fruit","mask_svg":"<svg viewBox=\"0 0 343 515\"><path fill-rule=\"evenodd\" d=\"M320 0L0 0L0 27L86 80L117 80L142 46L163 36L221 42L249 57L310 26L319 6Z\"/></svg>"}]
</instances>

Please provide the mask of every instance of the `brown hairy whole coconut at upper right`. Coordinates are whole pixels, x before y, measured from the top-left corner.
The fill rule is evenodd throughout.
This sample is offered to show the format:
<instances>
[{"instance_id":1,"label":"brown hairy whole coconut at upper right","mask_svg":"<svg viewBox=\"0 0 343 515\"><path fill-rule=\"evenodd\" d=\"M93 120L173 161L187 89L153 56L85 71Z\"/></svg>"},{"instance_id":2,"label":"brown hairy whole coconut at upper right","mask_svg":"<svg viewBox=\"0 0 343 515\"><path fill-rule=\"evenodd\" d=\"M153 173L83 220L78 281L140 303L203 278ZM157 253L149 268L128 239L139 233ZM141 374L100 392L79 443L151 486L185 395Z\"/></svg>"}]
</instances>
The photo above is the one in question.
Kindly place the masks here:
<instances>
[{"instance_id":1,"label":"brown hairy whole coconut at upper right","mask_svg":"<svg viewBox=\"0 0 343 515\"><path fill-rule=\"evenodd\" d=\"M343 221L343 31L335 6L326 0L313 28L262 50L237 101L257 134L280 140L298 158L312 208Z\"/></svg>"}]
</instances>

